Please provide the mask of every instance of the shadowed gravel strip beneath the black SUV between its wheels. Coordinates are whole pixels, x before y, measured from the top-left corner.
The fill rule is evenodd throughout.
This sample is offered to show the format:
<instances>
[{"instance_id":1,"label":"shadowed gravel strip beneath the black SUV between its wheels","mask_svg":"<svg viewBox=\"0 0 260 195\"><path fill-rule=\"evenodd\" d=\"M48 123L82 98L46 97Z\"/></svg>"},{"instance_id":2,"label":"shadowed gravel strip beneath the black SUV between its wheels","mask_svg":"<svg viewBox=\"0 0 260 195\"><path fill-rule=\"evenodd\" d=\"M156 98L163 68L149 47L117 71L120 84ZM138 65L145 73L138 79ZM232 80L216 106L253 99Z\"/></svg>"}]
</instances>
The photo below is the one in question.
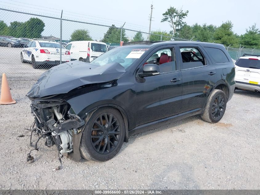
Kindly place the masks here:
<instances>
[{"instance_id":1,"label":"shadowed gravel strip beneath the black SUV between its wheels","mask_svg":"<svg viewBox=\"0 0 260 195\"><path fill-rule=\"evenodd\" d=\"M158 131L164 131L167 130L169 128L174 128L174 127L178 127L181 124L186 124L195 120L201 120L201 117L199 115L195 115L195 116L190 116L186 119L182 119L182 120L167 120L158 124L154 124L154 125L150 125L148 127L142 128L142 132L138 133L136 135L130 136L129 137L129 141L127 143L125 143L125 147L122 147L118 154L120 154L121 152L123 152L125 150L125 148L127 148L129 145L134 144L134 141L136 140L136 138L142 137L142 136L146 136ZM185 131L184 131L185 132Z\"/></svg>"}]
</instances>

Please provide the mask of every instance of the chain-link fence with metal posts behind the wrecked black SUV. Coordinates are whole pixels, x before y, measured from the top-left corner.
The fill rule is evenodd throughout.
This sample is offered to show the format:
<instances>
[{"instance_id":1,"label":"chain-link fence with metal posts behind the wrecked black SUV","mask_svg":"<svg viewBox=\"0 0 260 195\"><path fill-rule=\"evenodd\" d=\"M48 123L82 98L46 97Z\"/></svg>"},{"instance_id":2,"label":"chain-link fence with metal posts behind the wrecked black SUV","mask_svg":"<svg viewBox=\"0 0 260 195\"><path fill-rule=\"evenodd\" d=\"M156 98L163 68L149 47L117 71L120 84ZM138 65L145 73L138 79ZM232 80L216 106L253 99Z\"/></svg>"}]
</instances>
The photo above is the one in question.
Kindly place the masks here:
<instances>
[{"instance_id":1,"label":"chain-link fence with metal posts behind the wrecked black SUV","mask_svg":"<svg viewBox=\"0 0 260 195\"><path fill-rule=\"evenodd\" d=\"M36 80L44 71L73 60L91 62L130 41L190 41L122 26L94 24L0 8L0 77ZM42 36L46 35L46 36ZM260 50L226 47L237 60Z\"/></svg>"}]
</instances>

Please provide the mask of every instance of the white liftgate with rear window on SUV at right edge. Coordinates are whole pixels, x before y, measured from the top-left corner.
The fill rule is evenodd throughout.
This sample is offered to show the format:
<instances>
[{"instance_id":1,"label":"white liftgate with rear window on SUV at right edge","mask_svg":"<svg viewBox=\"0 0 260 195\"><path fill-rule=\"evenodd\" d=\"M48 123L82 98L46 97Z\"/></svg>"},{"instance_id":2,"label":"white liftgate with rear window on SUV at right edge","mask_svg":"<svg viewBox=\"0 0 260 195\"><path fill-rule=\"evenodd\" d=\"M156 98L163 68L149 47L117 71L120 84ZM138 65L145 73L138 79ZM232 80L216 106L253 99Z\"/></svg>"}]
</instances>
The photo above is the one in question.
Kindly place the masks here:
<instances>
[{"instance_id":1,"label":"white liftgate with rear window on SUV at right edge","mask_svg":"<svg viewBox=\"0 0 260 195\"><path fill-rule=\"evenodd\" d=\"M260 83L260 60L257 57L249 59L240 58L236 65L236 82L259 84Z\"/></svg>"}]
</instances>

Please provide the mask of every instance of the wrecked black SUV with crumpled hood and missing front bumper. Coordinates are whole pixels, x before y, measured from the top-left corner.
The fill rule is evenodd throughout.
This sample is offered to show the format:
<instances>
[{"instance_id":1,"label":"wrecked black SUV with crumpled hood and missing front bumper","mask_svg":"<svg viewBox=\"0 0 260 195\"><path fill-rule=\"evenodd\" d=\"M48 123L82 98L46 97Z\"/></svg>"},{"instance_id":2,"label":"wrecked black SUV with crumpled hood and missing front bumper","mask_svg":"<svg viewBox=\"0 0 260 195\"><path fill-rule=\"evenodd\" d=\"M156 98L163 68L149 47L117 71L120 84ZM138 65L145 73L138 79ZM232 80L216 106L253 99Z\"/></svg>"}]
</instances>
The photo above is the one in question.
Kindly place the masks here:
<instances>
[{"instance_id":1,"label":"wrecked black SUV with crumpled hood and missing front bumper","mask_svg":"<svg viewBox=\"0 0 260 195\"><path fill-rule=\"evenodd\" d=\"M128 137L151 124L200 114L217 123L235 88L223 45L133 42L90 63L72 61L43 73L27 96L46 146L74 160L113 158Z\"/></svg>"}]
</instances>

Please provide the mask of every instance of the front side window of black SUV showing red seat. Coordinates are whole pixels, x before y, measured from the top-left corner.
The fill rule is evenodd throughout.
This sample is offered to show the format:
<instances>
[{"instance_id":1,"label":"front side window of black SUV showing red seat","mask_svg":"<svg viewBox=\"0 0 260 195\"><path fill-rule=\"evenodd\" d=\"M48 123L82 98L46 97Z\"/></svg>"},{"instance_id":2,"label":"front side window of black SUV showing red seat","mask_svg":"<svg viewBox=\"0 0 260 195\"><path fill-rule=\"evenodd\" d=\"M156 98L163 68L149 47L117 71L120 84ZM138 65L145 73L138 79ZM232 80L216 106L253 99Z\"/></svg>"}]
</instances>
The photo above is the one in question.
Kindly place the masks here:
<instances>
[{"instance_id":1,"label":"front side window of black SUV showing red seat","mask_svg":"<svg viewBox=\"0 0 260 195\"><path fill-rule=\"evenodd\" d=\"M173 48L156 51L149 57L145 64L157 64L161 73L176 71L176 60Z\"/></svg>"}]
</instances>

